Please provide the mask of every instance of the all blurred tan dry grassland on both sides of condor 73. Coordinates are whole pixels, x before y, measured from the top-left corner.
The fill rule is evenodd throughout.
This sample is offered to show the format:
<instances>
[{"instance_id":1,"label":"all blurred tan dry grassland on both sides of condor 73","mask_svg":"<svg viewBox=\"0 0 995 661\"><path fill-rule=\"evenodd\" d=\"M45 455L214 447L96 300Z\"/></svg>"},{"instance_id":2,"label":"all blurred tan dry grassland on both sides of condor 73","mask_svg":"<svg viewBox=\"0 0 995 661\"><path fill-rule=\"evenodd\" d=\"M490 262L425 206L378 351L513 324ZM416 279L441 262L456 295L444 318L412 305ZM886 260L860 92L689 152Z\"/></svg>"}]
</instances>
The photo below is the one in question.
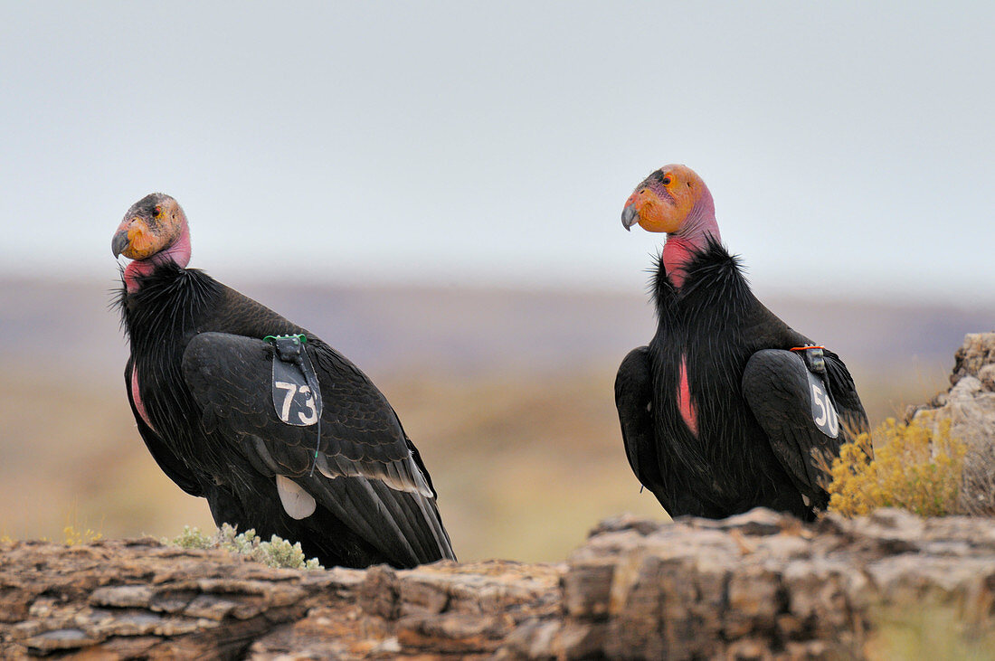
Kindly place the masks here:
<instances>
[{"instance_id":1,"label":"all blurred tan dry grassland on both sides of condor 73","mask_svg":"<svg viewBox=\"0 0 995 661\"><path fill-rule=\"evenodd\" d=\"M22 372L30 374L30 372ZM560 561L601 519L666 519L626 462L614 367L541 374L374 375L422 452L464 561ZM48 400L32 393L46 392ZM53 413L50 402L58 402ZM203 499L155 465L123 384L27 386L0 375L0 532L16 539L213 530ZM42 423L44 421L44 423ZM81 523L83 522L83 523Z\"/></svg>"}]
</instances>

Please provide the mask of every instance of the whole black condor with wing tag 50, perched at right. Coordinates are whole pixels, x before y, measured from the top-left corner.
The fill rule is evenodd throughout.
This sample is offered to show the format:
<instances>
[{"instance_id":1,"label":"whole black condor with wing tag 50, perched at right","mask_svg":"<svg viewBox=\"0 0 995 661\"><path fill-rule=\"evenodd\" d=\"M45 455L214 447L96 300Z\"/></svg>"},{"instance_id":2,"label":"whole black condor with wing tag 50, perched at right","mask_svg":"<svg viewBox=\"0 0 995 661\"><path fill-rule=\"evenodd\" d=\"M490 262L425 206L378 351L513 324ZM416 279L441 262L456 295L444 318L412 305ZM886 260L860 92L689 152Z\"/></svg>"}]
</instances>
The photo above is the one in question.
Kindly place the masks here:
<instances>
[{"instance_id":1,"label":"whole black condor with wing tag 50, perched at right","mask_svg":"<svg viewBox=\"0 0 995 661\"><path fill-rule=\"evenodd\" d=\"M829 501L823 467L868 426L846 365L753 296L693 170L668 165L637 186L622 225L637 224L667 242L656 335L615 381L636 477L671 516L764 506L811 519Z\"/></svg>"}]
</instances>

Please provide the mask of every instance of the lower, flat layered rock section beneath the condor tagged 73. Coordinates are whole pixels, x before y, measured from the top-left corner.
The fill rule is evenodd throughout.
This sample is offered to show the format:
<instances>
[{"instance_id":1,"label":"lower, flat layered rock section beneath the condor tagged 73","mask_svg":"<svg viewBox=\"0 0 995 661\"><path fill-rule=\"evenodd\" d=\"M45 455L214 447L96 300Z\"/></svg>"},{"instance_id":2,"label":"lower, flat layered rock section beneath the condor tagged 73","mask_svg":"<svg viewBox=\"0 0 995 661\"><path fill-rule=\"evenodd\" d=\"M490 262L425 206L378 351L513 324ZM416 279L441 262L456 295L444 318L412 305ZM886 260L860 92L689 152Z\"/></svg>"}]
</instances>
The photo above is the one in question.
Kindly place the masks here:
<instances>
[{"instance_id":1,"label":"lower, flat layered rock section beneath the condor tagged 73","mask_svg":"<svg viewBox=\"0 0 995 661\"><path fill-rule=\"evenodd\" d=\"M561 567L273 570L152 539L0 547L0 658L393 658L493 653L558 611Z\"/></svg>"}]
</instances>

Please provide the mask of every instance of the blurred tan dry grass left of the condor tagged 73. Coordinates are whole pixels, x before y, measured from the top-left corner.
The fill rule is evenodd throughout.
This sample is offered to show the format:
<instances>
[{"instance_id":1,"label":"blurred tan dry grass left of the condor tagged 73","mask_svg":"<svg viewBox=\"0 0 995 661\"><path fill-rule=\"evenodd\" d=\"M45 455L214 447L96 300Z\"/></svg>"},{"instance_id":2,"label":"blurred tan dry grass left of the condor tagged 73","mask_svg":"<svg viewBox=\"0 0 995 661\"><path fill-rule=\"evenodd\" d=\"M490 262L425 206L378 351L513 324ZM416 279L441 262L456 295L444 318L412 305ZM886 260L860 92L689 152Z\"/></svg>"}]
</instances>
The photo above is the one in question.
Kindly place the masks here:
<instances>
[{"instance_id":1,"label":"blurred tan dry grass left of the condor tagged 73","mask_svg":"<svg viewBox=\"0 0 995 661\"><path fill-rule=\"evenodd\" d=\"M166 477L138 436L123 384L55 369L0 375L0 531L105 538L213 526L205 501ZM161 532L160 532L161 531Z\"/></svg>"}]
</instances>

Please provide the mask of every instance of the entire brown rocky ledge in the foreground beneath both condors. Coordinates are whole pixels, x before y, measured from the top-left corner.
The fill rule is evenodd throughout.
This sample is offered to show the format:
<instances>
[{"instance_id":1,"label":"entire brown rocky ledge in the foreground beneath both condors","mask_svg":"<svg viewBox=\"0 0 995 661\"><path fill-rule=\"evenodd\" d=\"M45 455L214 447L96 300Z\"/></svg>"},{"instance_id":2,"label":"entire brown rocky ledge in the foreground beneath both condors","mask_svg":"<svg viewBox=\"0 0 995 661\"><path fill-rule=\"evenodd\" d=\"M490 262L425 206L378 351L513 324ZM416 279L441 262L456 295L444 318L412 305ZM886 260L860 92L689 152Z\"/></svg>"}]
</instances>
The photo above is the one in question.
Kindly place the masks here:
<instances>
[{"instance_id":1,"label":"entire brown rocky ledge in the foreground beneath both condors","mask_svg":"<svg viewBox=\"0 0 995 661\"><path fill-rule=\"evenodd\" d=\"M936 609L992 639L995 521L623 517L561 565L409 571L272 570L152 539L0 547L3 658L860 658Z\"/></svg>"}]
</instances>

